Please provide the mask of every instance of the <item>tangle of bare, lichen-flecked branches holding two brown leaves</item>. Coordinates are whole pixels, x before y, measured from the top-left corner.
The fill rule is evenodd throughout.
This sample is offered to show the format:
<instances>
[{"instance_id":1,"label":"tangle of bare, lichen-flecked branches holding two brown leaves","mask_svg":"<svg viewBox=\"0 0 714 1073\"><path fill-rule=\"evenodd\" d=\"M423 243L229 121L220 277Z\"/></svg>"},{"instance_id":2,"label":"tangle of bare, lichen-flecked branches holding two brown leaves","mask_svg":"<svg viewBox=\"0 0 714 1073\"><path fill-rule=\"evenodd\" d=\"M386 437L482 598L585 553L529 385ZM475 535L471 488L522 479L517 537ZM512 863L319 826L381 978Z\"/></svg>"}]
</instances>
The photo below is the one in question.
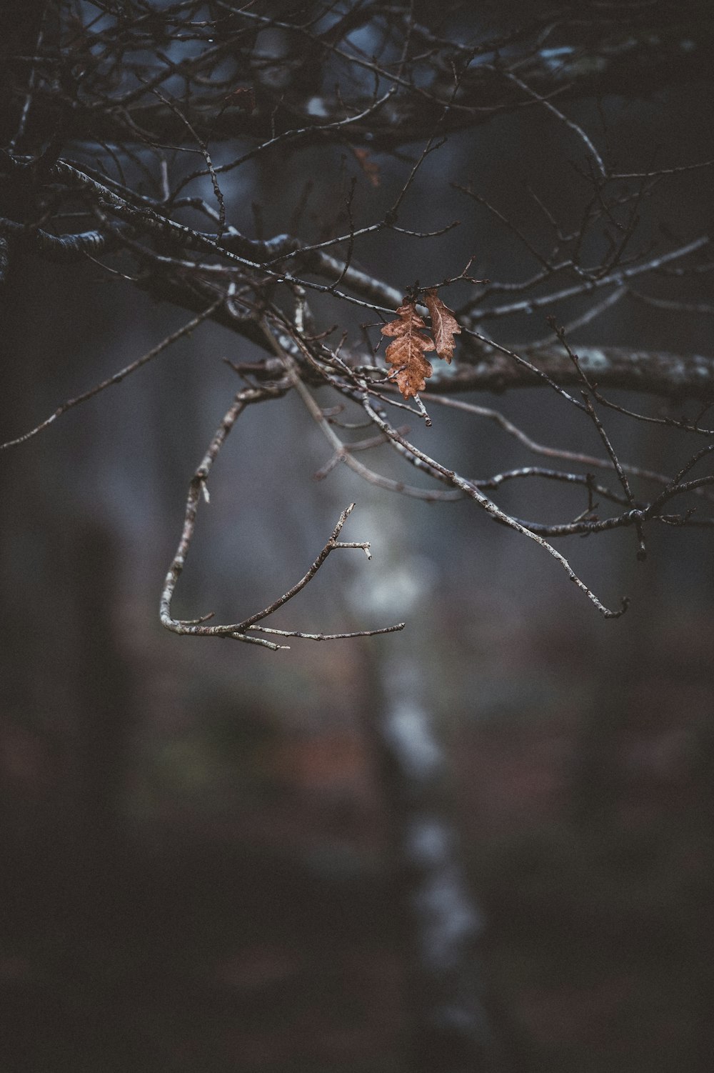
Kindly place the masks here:
<instances>
[{"instance_id":1,"label":"tangle of bare, lichen-flecked branches holding two brown leaves","mask_svg":"<svg viewBox=\"0 0 714 1073\"><path fill-rule=\"evenodd\" d=\"M681 160L657 133L660 111L676 106L663 93L712 78L709 3L593 0L504 16L472 3L12 0L0 13L0 276L25 256L58 266L89 259L121 285L191 314L35 428L8 430L4 447L204 321L258 348L234 365L241 385L191 481L161 600L169 630L274 649L285 636L401 629L324 634L263 624L332 550L369 555L366 542L339 539L351 506L304 576L264 609L220 626L173 616L215 457L247 407L291 392L329 444L323 472L344 462L397 494L471 499L540 545L606 617L620 616L626 601L604 603L553 541L629 528L642 559L653 526L714 525L714 475L703 469L714 450L714 358L681 353L667 339L656 350L570 340L581 328L596 332L621 302L672 321L714 312L709 231L660 216L668 183L711 183L714 147ZM646 153L612 144L616 98L655 102ZM507 199L492 203L463 179L485 124L524 115L556 133L562 155L552 167L569 176L567 205L526 189L537 227L516 219ZM326 168L339 208L310 215L310 176ZM276 174L295 181L266 212L262 183ZM504 165L504 183L511 181ZM437 225L415 220L425 191L444 206ZM462 258L455 236L470 224L447 215L451 205L465 219L493 218L518 246L511 278L486 278L476 238ZM423 244L438 249L446 273L414 278ZM529 314L532 337L519 341L514 325L522 330ZM458 397L517 387L556 393L596 431L600 453L536 443L499 410ZM623 388L642 393L642 405L611 396ZM402 425L408 415L431 427L455 410L497 423L523 447L523 465L476 479ZM614 412L676 433L684 460L653 472L621 458L608 427ZM403 479L363 460L385 444ZM575 486L571 514L556 523L520 517L494 498L505 483L534 481Z\"/></svg>"}]
</instances>

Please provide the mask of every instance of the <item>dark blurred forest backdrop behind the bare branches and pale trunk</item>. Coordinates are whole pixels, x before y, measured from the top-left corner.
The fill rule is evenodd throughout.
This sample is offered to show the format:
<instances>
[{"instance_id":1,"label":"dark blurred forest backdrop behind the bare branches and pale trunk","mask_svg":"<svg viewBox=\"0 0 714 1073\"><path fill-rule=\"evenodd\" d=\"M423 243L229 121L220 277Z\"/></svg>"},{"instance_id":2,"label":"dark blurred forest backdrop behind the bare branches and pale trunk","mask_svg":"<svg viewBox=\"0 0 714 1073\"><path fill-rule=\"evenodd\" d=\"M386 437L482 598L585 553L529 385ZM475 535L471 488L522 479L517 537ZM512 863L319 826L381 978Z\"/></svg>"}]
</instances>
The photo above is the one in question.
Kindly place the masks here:
<instances>
[{"instance_id":1,"label":"dark blurred forest backdrop behind the bare branches and pale trunk","mask_svg":"<svg viewBox=\"0 0 714 1073\"><path fill-rule=\"evenodd\" d=\"M487 14L492 28L521 9ZM596 132L605 116L634 167L655 143L661 163L714 156L705 79L568 114ZM545 112L452 136L425 164L405 225L453 217L461 227L425 240L408 265L377 235L373 265L404 286L472 254L477 276L521 277L515 237L456 192L435 203L430 170L448 164L537 238L547 221L533 218L526 187L566 212L578 151ZM403 180L391 157L374 159L380 185L362 181L360 197L386 206ZM250 232L255 201L273 234L309 180L316 229L338 210L343 176L365 179L341 147L281 161L276 150L226 176L237 226ZM666 227L684 241L711 225L704 175L663 187L649 206L653 236ZM701 298L711 283L695 285ZM89 262L58 271L28 258L0 300L2 438L185 320ZM499 329L505 343L548 333L538 313ZM711 318L628 300L572 343L594 337L712 350ZM330 559L279 624L404 618L406 629L281 653L176 637L159 623L159 592L188 480L236 389L223 357L250 361L250 344L204 324L1 457L3 1071L402 1068L399 900L366 732L400 667L417 676L446 752L443 807L487 922L482 956L519 1068L711 1069L711 536L663 529L643 563L631 532L570 542L604 599L631 598L627 615L604 620L548 556L473 503L390 496L345 467L315 483L326 446L293 393L250 408L217 462L182 606L223 620L263 606L354 499L344 539L370 540L372 562ZM552 393L507 393L497 406L534 439L597 449L592 430L577 440ZM497 428L444 413L433 408L420 442L468 473L523 464ZM625 457L665 470L680 460L667 430L616 415L613 428ZM547 514L566 493L529 495Z\"/></svg>"}]
</instances>

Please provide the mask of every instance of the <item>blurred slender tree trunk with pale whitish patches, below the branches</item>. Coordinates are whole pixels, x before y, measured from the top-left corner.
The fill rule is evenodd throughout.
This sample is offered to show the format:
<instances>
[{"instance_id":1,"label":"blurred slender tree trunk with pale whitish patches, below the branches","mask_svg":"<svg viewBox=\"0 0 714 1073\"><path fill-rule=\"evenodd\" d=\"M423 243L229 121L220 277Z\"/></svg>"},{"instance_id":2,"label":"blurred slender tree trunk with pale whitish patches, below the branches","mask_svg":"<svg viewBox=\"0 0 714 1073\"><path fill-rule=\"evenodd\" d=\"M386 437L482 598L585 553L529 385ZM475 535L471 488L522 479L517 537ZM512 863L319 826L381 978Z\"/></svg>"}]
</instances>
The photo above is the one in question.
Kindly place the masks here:
<instances>
[{"instance_id":1,"label":"blurred slender tree trunk with pale whitish patches, below the branches","mask_svg":"<svg viewBox=\"0 0 714 1073\"><path fill-rule=\"evenodd\" d=\"M407 546L386 518L391 548ZM383 526L382 528L385 528ZM402 571L420 576L393 553L380 603L403 602ZM389 563L387 564L389 570ZM393 591L391 591L393 588ZM428 585L411 591L407 630L367 648L371 685L366 735L388 815L406 966L407 1073L501 1073L512 1041L499 1039L491 1016L481 939L485 921L470 890L448 802L448 763L440 739L427 667L434 659L426 630ZM359 600L369 600L360 591ZM437 676L436 676L437 677ZM500 1026L500 1031L503 1026ZM515 1069L515 1067L514 1067Z\"/></svg>"}]
</instances>

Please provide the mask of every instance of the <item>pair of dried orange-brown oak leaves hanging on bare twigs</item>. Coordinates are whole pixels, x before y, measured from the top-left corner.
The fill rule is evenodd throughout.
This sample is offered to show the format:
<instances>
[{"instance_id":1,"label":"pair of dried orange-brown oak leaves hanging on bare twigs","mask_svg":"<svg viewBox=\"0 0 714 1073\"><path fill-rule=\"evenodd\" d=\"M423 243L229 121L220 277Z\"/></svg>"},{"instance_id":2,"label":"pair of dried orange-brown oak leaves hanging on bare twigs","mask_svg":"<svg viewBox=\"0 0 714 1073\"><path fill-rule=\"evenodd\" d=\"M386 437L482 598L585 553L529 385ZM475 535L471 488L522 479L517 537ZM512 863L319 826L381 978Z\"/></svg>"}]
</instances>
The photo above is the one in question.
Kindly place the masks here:
<instances>
[{"instance_id":1,"label":"pair of dried orange-brown oak leaves hanging on bare twigs","mask_svg":"<svg viewBox=\"0 0 714 1073\"><path fill-rule=\"evenodd\" d=\"M427 325L416 310L415 298L404 298L397 310L397 320L389 321L382 328L382 335L390 336L393 342L387 347L385 357L393 366L389 379L397 383L405 399L414 398L427 386L427 380L434 371L431 362L423 356L435 350L448 364L453 357L453 336L461 334L453 311L446 306L432 286L425 293L425 305L431 318L433 339L427 334Z\"/></svg>"}]
</instances>

